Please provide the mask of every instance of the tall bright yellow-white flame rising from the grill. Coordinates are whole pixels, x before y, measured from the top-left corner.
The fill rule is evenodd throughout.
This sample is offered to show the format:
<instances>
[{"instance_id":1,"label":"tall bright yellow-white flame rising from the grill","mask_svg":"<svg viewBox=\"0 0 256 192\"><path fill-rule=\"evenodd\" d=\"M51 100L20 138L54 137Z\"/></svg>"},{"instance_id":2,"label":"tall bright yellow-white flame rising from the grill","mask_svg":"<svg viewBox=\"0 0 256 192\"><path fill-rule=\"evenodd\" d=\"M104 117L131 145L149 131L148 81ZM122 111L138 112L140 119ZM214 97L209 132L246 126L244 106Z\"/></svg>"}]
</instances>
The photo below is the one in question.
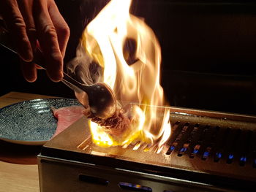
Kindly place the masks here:
<instances>
[{"instance_id":1,"label":"tall bright yellow-white flame rising from the grill","mask_svg":"<svg viewBox=\"0 0 256 192\"><path fill-rule=\"evenodd\" d=\"M169 111L159 84L161 50L157 37L146 23L129 14L132 0L112 0L83 32L84 50L104 69L102 80L110 85L118 101L132 107L130 133L116 141L105 129L90 122L94 143L102 147L137 143L156 146L159 152L170 136ZM121 103L124 106L124 103Z\"/></svg>"}]
</instances>

